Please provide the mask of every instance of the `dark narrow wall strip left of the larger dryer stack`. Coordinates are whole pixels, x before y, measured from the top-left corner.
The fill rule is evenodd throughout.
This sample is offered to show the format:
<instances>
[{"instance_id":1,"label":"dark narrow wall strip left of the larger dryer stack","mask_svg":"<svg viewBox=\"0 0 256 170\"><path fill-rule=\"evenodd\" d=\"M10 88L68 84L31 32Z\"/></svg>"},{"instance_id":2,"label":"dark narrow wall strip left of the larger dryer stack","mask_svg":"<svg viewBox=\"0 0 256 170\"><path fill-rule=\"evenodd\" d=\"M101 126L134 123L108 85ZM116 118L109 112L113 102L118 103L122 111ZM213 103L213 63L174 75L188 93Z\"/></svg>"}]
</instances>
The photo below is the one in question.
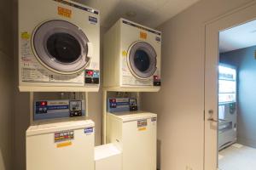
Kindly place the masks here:
<instances>
[{"instance_id":1,"label":"dark narrow wall strip left of the larger dryer stack","mask_svg":"<svg viewBox=\"0 0 256 170\"><path fill-rule=\"evenodd\" d=\"M11 170L14 156L14 61L12 1L0 0L0 169Z\"/></svg>"}]
</instances>

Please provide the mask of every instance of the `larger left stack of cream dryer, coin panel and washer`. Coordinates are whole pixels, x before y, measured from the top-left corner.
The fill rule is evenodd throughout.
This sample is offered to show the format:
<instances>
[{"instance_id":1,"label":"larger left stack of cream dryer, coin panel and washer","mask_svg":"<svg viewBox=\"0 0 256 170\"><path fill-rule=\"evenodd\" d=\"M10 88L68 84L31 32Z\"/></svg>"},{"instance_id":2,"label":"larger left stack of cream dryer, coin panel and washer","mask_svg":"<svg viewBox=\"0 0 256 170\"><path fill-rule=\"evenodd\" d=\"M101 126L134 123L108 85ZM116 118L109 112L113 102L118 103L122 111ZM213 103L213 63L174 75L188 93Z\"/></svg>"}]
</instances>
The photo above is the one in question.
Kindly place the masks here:
<instances>
[{"instance_id":1,"label":"larger left stack of cream dryer, coin panel and washer","mask_svg":"<svg viewBox=\"0 0 256 170\"><path fill-rule=\"evenodd\" d=\"M19 1L20 91L97 92L99 22L99 11L70 0ZM34 102L26 169L94 170L94 122L69 117L84 116L84 101Z\"/></svg>"}]
</instances>

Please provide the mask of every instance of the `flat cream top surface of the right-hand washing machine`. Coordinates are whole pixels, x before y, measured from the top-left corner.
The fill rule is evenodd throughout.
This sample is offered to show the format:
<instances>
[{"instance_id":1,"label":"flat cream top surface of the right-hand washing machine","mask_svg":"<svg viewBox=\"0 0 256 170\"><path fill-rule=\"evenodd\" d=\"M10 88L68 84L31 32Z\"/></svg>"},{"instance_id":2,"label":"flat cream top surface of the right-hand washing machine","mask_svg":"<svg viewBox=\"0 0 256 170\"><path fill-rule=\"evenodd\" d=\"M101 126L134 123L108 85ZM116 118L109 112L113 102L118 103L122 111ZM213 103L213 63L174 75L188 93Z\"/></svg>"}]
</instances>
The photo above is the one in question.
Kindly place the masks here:
<instances>
[{"instance_id":1,"label":"flat cream top surface of the right-hand washing machine","mask_svg":"<svg viewBox=\"0 0 256 170\"><path fill-rule=\"evenodd\" d=\"M138 121L141 119L149 119L157 117L156 114L145 112L145 111L124 111L124 112L116 112L110 113L113 116L117 117L122 122L131 122L131 121Z\"/></svg>"}]
</instances>

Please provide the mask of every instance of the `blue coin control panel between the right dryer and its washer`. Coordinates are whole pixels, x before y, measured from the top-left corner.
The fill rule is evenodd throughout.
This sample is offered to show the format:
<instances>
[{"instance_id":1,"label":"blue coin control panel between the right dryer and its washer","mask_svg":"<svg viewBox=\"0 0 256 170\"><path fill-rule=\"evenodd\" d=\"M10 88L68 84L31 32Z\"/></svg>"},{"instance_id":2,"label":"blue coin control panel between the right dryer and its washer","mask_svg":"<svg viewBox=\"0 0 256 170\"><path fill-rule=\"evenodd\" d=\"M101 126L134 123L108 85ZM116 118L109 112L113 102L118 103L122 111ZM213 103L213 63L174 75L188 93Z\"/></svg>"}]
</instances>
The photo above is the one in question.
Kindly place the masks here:
<instances>
[{"instance_id":1,"label":"blue coin control panel between the right dryer and its washer","mask_svg":"<svg viewBox=\"0 0 256 170\"><path fill-rule=\"evenodd\" d=\"M108 112L121 112L121 111L137 111L136 98L109 98L108 99Z\"/></svg>"}]
</instances>

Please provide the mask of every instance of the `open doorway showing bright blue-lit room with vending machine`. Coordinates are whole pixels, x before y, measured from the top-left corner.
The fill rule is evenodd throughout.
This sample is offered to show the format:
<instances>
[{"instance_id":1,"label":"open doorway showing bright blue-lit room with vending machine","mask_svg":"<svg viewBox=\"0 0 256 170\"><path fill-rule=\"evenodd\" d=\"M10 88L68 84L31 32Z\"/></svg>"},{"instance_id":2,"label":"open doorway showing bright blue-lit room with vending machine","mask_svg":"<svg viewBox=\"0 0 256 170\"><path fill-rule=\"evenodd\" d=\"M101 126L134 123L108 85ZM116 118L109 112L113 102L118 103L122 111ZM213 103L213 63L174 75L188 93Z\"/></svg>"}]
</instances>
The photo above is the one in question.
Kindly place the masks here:
<instances>
[{"instance_id":1,"label":"open doorway showing bright blue-lit room with vending machine","mask_svg":"<svg viewBox=\"0 0 256 170\"><path fill-rule=\"evenodd\" d=\"M218 168L256 167L256 20L219 33Z\"/></svg>"}]
</instances>

